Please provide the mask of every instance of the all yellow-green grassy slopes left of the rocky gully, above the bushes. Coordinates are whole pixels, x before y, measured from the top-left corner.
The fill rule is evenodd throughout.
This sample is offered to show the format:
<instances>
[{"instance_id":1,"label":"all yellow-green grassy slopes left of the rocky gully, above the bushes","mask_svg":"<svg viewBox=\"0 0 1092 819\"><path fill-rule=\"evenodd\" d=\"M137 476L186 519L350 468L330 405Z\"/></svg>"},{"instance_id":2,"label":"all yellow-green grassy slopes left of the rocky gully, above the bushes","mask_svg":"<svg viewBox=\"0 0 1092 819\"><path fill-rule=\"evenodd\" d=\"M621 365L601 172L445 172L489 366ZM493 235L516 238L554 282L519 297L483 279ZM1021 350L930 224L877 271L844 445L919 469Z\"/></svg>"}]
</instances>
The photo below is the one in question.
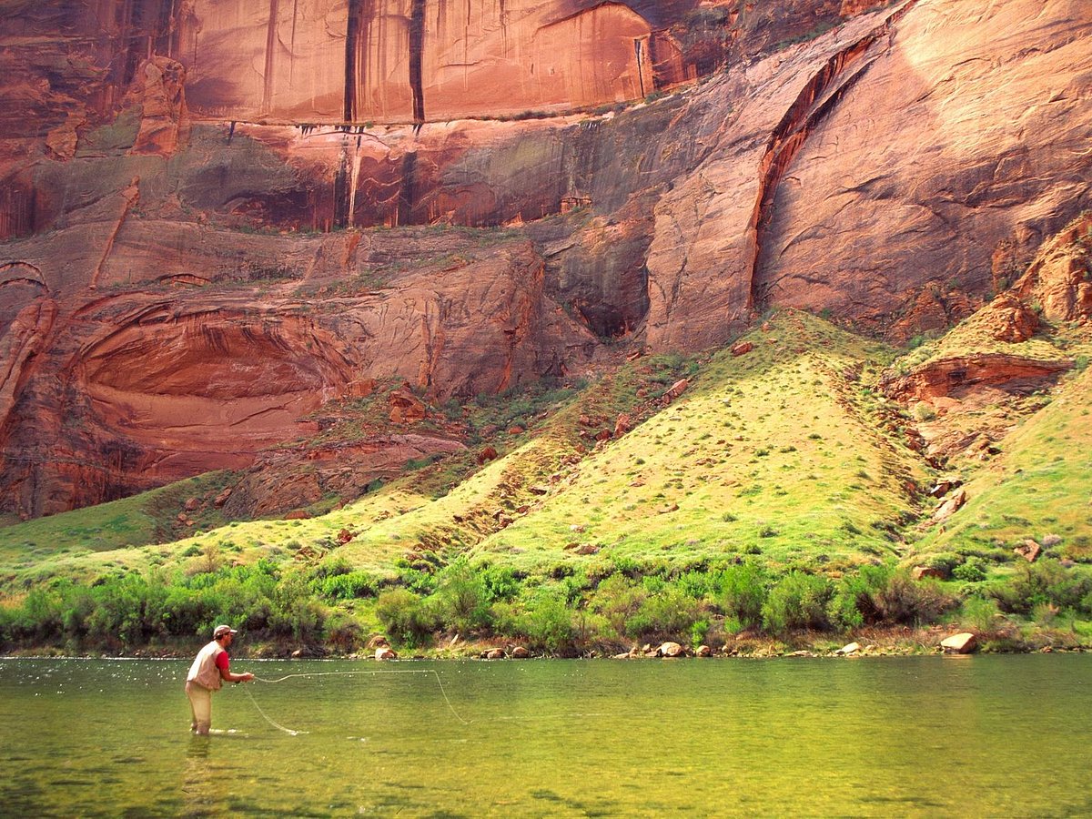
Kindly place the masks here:
<instances>
[{"instance_id":1,"label":"all yellow-green grassy slopes left of the rocky gully, above the bushes","mask_svg":"<svg viewBox=\"0 0 1092 819\"><path fill-rule=\"evenodd\" d=\"M919 514L928 477L891 407L863 385L892 351L795 312L743 341L753 349L690 365L688 388L666 406L657 399L681 378L681 360L627 365L450 490L441 461L324 515L233 522L144 549L131 546L143 545L141 532L152 539L150 520L115 539L124 548L88 539L94 521L119 514L106 505L0 530L3 568L94 577L163 565L165 555L192 569L214 553L246 562L334 550L388 575L399 558L422 553L473 551L521 573L614 559L762 555L782 568L836 568L897 556L895 533ZM620 415L636 423L642 413L651 417L617 440L594 440ZM155 497L121 503L139 510ZM342 531L354 535L344 545ZM28 555L20 544L29 542L43 545Z\"/></svg>"}]
</instances>

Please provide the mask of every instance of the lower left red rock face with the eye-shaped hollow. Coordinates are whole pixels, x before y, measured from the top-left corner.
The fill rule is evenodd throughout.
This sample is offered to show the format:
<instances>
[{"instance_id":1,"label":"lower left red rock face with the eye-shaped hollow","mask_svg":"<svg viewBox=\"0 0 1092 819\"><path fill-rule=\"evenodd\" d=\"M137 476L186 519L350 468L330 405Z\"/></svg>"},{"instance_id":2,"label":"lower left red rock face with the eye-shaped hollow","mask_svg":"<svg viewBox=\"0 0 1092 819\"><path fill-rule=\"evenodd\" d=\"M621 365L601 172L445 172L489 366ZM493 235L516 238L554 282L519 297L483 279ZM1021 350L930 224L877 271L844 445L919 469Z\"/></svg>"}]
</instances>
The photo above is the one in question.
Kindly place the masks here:
<instances>
[{"instance_id":1,"label":"lower left red rock face with the eye-shaped hollow","mask_svg":"<svg viewBox=\"0 0 1092 819\"><path fill-rule=\"evenodd\" d=\"M304 416L359 394L369 379L401 376L430 383L437 394L490 392L560 366L542 357L542 347L563 349L582 340L579 329L545 308L542 261L525 242L491 247L488 259L473 260L467 250L459 271L407 271L392 275L382 292L345 294L316 309L300 298L301 280L260 292L235 278L237 269L217 270L218 254L230 251L217 247L227 237L215 232L205 232L207 241L194 242L191 253L159 264L152 259L163 252L162 236L143 226L124 233L122 241L147 254L143 270L154 278L144 288L119 290L111 258L99 265L97 289L90 282L81 289L58 270L80 252L81 235L61 232L55 242L27 242L40 253L37 263L11 268L20 277L0 284L10 298L0 381L8 458L0 479L12 511L24 514L249 466L264 448L310 431ZM324 258L345 259L343 239L266 241L282 264L294 258L310 263L314 287L331 281L321 269ZM132 259L133 251L121 258ZM358 251L349 263L366 270L366 259ZM470 269L476 269L476 284L467 287ZM222 289L232 282L234 290ZM488 319L477 318L483 316ZM397 395L392 411L412 419L415 402ZM460 446L410 437L325 455L311 451L306 485L271 474L276 491L258 491L259 472L227 503L270 511L312 502L335 489L336 474L353 462L360 468L348 473L351 485L343 488L359 494L411 458ZM335 475L322 477L319 464L334 455ZM275 464L286 456L275 451L264 460Z\"/></svg>"}]
</instances>

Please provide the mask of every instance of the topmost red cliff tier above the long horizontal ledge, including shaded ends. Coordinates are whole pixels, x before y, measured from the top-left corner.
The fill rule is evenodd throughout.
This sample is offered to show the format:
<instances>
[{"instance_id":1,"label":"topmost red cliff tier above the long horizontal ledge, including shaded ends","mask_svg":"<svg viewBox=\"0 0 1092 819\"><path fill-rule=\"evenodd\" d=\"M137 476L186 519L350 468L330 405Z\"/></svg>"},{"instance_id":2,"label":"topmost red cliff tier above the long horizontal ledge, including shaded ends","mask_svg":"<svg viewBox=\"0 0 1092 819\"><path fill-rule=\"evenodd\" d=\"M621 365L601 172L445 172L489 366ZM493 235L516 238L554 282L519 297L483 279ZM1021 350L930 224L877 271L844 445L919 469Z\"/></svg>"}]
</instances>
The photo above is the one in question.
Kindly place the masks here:
<instances>
[{"instance_id":1,"label":"topmost red cliff tier above the long horizontal ledge, including shaded ends","mask_svg":"<svg viewBox=\"0 0 1092 819\"><path fill-rule=\"evenodd\" d=\"M426 121L644 97L745 49L866 10L786 0L775 11L698 0L104 0L19 8L20 80L123 86L154 52L190 73L194 114L302 122ZM712 7L712 8L709 8ZM62 68L55 55L72 57ZM29 59L28 59L29 58ZM27 66L28 69L21 69ZM71 74L76 74L75 82ZM33 83L41 111L62 106ZM115 92L116 94L116 92ZM97 96L93 94L93 96ZM109 96L93 102L116 102ZM61 117L63 119L63 117Z\"/></svg>"}]
</instances>

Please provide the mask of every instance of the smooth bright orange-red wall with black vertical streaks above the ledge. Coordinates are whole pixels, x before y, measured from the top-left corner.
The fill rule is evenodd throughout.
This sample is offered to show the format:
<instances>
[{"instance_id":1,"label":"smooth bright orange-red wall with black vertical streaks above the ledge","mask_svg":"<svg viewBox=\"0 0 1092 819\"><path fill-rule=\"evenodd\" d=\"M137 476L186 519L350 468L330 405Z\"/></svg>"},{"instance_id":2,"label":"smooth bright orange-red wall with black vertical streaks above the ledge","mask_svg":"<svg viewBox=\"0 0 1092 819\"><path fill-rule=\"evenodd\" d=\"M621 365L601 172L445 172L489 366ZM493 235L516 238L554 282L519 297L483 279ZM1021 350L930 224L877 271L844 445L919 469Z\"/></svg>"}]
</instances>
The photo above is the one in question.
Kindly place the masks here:
<instances>
[{"instance_id":1,"label":"smooth bright orange-red wall with black vertical streaks above the ledge","mask_svg":"<svg viewBox=\"0 0 1092 819\"><path fill-rule=\"evenodd\" d=\"M424 121L633 99L650 24L624 3L195 0L174 56L203 117Z\"/></svg>"}]
</instances>

